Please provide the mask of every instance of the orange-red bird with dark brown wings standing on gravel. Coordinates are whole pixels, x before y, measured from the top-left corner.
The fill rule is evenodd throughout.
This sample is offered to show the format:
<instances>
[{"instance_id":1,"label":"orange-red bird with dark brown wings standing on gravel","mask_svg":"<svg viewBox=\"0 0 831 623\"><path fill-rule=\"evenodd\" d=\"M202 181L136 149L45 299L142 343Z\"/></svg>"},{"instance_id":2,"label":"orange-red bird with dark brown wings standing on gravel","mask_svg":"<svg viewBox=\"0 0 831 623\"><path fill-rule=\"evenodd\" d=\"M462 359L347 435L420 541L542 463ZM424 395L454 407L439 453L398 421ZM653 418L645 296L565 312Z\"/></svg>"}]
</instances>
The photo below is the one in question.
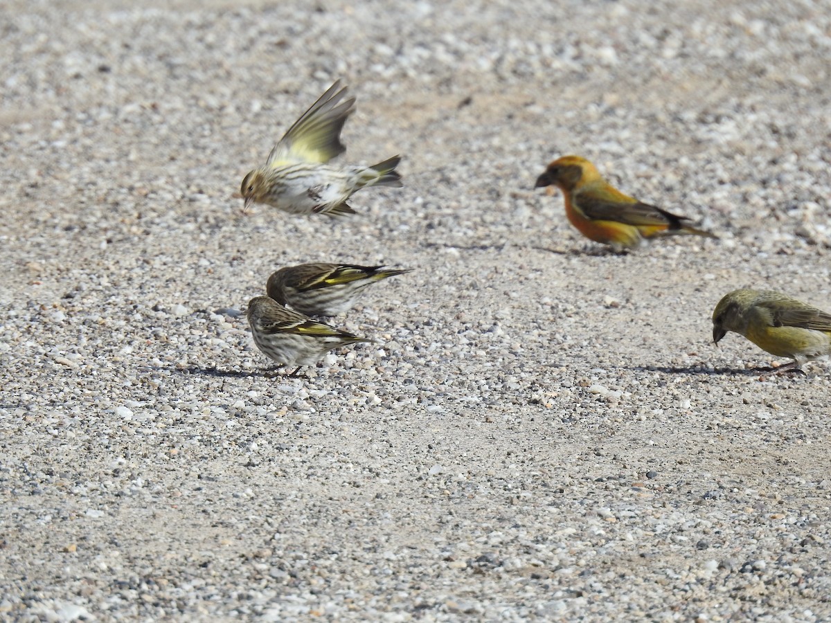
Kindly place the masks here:
<instances>
[{"instance_id":1,"label":"orange-red bird with dark brown wings standing on gravel","mask_svg":"<svg viewBox=\"0 0 831 623\"><path fill-rule=\"evenodd\" d=\"M563 156L548 164L535 188L557 186L563 191L566 216L586 238L612 245L616 251L634 248L643 238L689 233L718 238L684 223L685 216L669 213L623 194L580 156Z\"/></svg>"}]
</instances>

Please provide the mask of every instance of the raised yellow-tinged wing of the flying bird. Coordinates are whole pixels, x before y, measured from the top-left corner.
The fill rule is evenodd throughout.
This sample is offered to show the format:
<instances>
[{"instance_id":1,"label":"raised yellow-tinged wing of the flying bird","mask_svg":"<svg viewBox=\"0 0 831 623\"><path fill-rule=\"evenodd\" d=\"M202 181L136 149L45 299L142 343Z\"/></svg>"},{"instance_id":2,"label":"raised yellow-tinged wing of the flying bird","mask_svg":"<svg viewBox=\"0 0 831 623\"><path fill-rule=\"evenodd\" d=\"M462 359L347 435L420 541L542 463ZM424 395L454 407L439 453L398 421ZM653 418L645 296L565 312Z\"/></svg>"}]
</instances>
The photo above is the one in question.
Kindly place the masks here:
<instances>
[{"instance_id":1,"label":"raised yellow-tinged wing of the flying bird","mask_svg":"<svg viewBox=\"0 0 831 623\"><path fill-rule=\"evenodd\" d=\"M355 98L343 100L347 87L338 91L335 81L326 93L294 122L268 155L267 166L278 167L297 162L328 162L347 148L341 143L341 130L355 110Z\"/></svg>"}]
</instances>

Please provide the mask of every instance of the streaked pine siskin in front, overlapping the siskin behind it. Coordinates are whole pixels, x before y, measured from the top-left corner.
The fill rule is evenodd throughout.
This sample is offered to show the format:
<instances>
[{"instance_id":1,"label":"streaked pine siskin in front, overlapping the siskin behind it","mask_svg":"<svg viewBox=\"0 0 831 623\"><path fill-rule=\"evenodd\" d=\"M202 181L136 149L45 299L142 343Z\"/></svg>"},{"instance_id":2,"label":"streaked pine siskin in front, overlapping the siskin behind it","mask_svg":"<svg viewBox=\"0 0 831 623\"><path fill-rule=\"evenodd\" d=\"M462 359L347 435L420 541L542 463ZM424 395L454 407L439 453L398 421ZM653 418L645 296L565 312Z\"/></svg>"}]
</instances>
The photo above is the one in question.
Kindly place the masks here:
<instances>
[{"instance_id":1,"label":"streaked pine siskin in front, overlapping the siskin behind it","mask_svg":"<svg viewBox=\"0 0 831 623\"><path fill-rule=\"evenodd\" d=\"M263 355L278 364L297 365L292 376L297 375L303 365L316 364L338 346L371 341L313 321L269 297L253 297L248 302L246 316L254 344Z\"/></svg>"}]
</instances>

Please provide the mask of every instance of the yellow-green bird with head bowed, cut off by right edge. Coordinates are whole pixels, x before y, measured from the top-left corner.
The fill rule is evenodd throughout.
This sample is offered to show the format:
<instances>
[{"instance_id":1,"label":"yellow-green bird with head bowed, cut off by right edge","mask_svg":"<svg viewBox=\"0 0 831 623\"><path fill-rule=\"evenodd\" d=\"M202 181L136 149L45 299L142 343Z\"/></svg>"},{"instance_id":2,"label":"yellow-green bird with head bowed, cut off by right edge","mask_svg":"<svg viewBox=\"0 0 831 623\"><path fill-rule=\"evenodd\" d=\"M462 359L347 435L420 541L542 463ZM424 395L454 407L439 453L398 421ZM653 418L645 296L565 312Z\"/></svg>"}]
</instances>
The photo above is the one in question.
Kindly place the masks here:
<instances>
[{"instance_id":1,"label":"yellow-green bird with head bowed, cut off by right edge","mask_svg":"<svg viewBox=\"0 0 831 623\"><path fill-rule=\"evenodd\" d=\"M772 290L734 290L713 312L716 344L735 331L777 357L794 361L774 370L799 370L814 359L831 355L831 314Z\"/></svg>"}]
</instances>

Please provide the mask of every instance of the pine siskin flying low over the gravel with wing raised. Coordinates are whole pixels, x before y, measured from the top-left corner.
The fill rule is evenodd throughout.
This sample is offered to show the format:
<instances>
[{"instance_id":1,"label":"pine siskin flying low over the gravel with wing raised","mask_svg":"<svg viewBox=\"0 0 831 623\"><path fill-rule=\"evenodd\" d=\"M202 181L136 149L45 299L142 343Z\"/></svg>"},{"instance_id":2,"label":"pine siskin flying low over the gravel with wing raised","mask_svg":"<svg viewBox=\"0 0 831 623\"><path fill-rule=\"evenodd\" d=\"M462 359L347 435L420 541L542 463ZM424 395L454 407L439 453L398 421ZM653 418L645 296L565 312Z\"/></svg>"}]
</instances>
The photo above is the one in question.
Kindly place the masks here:
<instances>
[{"instance_id":1,"label":"pine siskin flying low over the gravel with wing raised","mask_svg":"<svg viewBox=\"0 0 831 623\"><path fill-rule=\"evenodd\" d=\"M343 100L340 81L329 87L312 107L294 122L274 145L266 164L249 172L241 193L245 209L252 203L268 204L293 214L354 214L347 199L365 186L401 186L393 156L372 166L332 166L326 164L346 147L341 130L355 110L355 98Z\"/></svg>"}]
</instances>

